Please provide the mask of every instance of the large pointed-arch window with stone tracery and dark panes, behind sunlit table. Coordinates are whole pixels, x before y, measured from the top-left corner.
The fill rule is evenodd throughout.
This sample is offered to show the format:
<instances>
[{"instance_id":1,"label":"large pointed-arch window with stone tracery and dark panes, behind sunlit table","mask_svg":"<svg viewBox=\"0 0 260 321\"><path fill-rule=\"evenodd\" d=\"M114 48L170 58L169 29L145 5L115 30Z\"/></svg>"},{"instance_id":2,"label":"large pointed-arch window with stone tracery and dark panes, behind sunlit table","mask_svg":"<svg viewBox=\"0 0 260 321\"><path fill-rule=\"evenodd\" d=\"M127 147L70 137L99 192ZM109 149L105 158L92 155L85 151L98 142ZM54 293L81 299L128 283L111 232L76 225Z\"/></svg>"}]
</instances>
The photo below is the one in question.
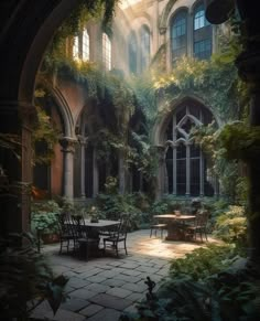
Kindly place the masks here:
<instances>
[{"instance_id":1,"label":"large pointed-arch window with stone tracery and dark panes, behind sunlit table","mask_svg":"<svg viewBox=\"0 0 260 321\"><path fill-rule=\"evenodd\" d=\"M207 181L207 160L191 137L194 126L212 121L212 113L192 100L182 104L173 113L165 135L169 146L165 185L169 193L187 196L214 194L215 186Z\"/></svg>"}]
</instances>

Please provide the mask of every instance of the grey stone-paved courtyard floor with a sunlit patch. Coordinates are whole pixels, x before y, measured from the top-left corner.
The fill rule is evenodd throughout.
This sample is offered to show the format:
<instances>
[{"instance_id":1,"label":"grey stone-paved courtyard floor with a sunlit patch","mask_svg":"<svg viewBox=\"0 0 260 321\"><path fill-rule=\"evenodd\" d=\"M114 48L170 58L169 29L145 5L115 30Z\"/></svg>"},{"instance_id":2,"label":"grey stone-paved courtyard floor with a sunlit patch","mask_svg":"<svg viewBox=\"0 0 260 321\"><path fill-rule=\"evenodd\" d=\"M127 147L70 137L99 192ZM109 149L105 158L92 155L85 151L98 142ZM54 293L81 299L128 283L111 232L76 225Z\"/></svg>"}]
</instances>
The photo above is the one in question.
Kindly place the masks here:
<instances>
[{"instance_id":1,"label":"grey stone-paved courtyard floor with a sunlit patch","mask_svg":"<svg viewBox=\"0 0 260 321\"><path fill-rule=\"evenodd\" d=\"M214 240L209 238L209 242ZM117 321L123 311L133 312L134 304L145 298L148 276L156 282L156 290L169 274L171 260L199 246L202 244L150 238L149 229L129 233L128 255L122 249L119 258L111 253L85 261L58 255L58 244L44 246L43 252L54 272L69 278L68 299L55 315L48 303L43 302L32 317L59 321Z\"/></svg>"}]
</instances>

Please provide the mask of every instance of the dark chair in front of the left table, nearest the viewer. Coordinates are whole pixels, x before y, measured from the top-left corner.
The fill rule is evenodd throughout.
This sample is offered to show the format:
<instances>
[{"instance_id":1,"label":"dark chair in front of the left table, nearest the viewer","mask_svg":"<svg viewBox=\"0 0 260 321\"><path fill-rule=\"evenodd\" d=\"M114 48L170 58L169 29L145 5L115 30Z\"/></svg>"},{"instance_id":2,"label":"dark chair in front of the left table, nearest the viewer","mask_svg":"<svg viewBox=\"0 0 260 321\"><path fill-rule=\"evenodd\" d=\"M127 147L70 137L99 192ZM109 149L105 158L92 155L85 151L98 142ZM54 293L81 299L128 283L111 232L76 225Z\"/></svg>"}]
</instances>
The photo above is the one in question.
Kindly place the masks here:
<instances>
[{"instance_id":1,"label":"dark chair in front of the left table, nearest the viewer","mask_svg":"<svg viewBox=\"0 0 260 321\"><path fill-rule=\"evenodd\" d=\"M87 229L83 216L73 215L72 221L74 234L76 235L76 247L79 252L79 256L88 259L90 255L97 255L99 253L100 239L98 234L94 235Z\"/></svg>"}]
</instances>

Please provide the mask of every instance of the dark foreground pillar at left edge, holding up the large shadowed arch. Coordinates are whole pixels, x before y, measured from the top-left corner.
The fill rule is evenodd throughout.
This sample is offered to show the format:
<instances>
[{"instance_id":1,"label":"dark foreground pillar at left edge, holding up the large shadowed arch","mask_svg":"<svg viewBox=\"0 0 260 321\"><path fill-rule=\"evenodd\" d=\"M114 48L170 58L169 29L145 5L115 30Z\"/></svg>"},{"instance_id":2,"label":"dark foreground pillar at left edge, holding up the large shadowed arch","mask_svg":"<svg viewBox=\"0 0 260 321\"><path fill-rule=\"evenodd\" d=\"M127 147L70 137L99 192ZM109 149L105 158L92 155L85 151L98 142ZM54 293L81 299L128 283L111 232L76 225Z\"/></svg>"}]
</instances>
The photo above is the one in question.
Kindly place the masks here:
<instances>
[{"instance_id":1,"label":"dark foreground pillar at left edge, holding up the large shadowed arch","mask_svg":"<svg viewBox=\"0 0 260 321\"><path fill-rule=\"evenodd\" d=\"M12 135L14 147L0 148L0 164L6 176L0 189L0 233L30 231L32 185L31 126L35 122L35 108L20 101L0 101L0 131Z\"/></svg>"}]
</instances>

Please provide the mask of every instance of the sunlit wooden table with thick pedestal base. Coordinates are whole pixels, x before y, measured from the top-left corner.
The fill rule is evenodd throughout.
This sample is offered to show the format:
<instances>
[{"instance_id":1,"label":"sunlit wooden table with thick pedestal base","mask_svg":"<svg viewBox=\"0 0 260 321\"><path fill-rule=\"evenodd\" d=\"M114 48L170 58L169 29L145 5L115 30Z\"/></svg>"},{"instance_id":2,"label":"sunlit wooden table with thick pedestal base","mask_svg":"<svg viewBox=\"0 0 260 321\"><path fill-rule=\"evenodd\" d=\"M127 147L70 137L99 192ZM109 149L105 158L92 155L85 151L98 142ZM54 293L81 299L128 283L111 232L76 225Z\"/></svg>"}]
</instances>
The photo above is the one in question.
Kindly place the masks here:
<instances>
[{"instance_id":1,"label":"sunlit wooden table with thick pedestal base","mask_svg":"<svg viewBox=\"0 0 260 321\"><path fill-rule=\"evenodd\" d=\"M184 234L181 227L187 221L195 220L195 215L176 215L176 214L161 214L154 215L153 217L163 220L167 224L167 236L166 240L184 240Z\"/></svg>"}]
</instances>

